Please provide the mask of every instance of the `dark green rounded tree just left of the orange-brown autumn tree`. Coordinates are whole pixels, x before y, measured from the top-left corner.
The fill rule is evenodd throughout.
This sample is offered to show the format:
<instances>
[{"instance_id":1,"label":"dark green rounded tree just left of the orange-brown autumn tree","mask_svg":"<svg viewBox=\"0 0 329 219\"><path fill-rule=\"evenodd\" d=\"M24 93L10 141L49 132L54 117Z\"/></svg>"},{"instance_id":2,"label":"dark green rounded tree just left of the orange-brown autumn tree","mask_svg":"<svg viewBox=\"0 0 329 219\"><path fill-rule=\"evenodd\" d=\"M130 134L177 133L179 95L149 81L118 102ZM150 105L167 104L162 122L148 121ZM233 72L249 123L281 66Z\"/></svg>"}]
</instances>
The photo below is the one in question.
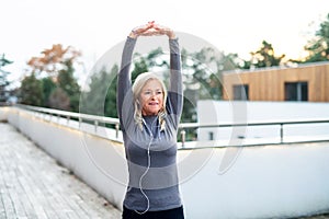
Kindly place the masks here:
<instances>
[{"instance_id":1,"label":"dark green rounded tree just left of the orange-brown autumn tree","mask_svg":"<svg viewBox=\"0 0 329 219\"><path fill-rule=\"evenodd\" d=\"M21 103L26 105L42 106L43 88L42 82L32 73L23 79L20 88Z\"/></svg>"}]
</instances>

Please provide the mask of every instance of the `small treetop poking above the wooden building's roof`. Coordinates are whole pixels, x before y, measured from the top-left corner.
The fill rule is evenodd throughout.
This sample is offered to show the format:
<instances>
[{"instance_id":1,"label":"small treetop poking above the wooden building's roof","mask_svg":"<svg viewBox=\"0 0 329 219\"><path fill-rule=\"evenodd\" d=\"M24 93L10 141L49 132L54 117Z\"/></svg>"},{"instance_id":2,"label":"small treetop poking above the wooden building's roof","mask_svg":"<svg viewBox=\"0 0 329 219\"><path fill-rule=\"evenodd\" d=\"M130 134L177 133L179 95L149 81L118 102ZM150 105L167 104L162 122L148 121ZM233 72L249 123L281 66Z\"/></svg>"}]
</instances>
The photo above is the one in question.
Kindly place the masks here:
<instances>
[{"instance_id":1,"label":"small treetop poking above the wooden building's roof","mask_svg":"<svg viewBox=\"0 0 329 219\"><path fill-rule=\"evenodd\" d=\"M281 61L285 57L285 55L276 57L274 55L272 44L265 41L262 42L262 46L259 50L251 51L250 55L251 59L243 61L243 65L241 66L242 69L280 66Z\"/></svg>"}]
</instances>

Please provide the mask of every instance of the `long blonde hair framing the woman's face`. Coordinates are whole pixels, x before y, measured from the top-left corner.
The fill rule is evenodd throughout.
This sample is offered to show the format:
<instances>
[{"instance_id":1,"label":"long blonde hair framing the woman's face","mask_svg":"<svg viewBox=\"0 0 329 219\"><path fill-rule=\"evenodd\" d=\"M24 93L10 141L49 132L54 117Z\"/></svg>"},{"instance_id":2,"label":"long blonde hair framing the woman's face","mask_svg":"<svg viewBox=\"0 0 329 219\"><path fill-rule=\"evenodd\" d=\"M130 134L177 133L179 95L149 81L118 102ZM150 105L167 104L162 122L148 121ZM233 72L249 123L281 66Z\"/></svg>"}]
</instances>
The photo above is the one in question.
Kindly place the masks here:
<instances>
[{"instance_id":1,"label":"long blonde hair framing the woman's face","mask_svg":"<svg viewBox=\"0 0 329 219\"><path fill-rule=\"evenodd\" d=\"M162 107L158 113L158 117L159 117L159 124L160 124L160 130L164 130L164 125L166 125L166 120L164 117L167 115L166 112L166 102L167 102L167 89L166 85L163 83L163 81L154 72L144 72L140 73L134 84L133 84L133 95L134 95L134 119L135 123L139 126L139 128L143 130L143 115L141 115L141 105L139 103L139 95L140 92L143 90L143 88L145 87L145 84L149 81L149 80L157 80L161 87L162 87L162 92L163 92L163 102L162 102Z\"/></svg>"}]
</instances>

